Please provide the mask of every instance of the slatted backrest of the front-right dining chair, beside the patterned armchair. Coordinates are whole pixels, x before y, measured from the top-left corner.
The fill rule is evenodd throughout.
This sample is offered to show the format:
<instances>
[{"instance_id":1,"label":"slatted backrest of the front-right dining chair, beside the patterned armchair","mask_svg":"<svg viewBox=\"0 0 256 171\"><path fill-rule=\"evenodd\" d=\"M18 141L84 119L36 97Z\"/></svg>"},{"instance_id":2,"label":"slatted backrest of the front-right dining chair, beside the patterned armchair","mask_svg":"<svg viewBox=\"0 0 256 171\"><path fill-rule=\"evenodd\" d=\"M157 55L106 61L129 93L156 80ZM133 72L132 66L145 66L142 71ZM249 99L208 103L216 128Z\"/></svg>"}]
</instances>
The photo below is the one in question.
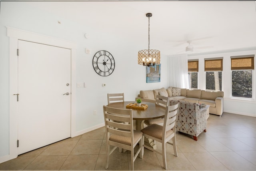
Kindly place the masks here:
<instances>
[{"instance_id":1,"label":"slatted backrest of the front-right dining chair, beside the patterned armchair","mask_svg":"<svg viewBox=\"0 0 256 171\"><path fill-rule=\"evenodd\" d=\"M166 113L164 116L164 125L163 125L163 138L167 136L166 133L171 129L174 133L176 131L176 122L178 118L179 105L180 103L177 103L171 106L170 105L166 106Z\"/></svg>"}]
</instances>

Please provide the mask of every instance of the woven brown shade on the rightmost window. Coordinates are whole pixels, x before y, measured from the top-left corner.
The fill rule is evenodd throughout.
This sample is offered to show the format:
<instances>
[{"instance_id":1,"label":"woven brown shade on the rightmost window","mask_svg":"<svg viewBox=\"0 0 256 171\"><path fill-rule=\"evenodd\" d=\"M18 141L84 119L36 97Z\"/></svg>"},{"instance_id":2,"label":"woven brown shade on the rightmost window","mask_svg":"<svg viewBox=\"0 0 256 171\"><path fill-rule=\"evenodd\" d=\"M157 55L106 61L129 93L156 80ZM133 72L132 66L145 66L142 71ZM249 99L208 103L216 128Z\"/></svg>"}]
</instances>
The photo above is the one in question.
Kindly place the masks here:
<instances>
[{"instance_id":1,"label":"woven brown shade on the rightmost window","mask_svg":"<svg viewBox=\"0 0 256 171\"><path fill-rule=\"evenodd\" d=\"M254 70L254 57L231 58L231 70Z\"/></svg>"}]
</instances>

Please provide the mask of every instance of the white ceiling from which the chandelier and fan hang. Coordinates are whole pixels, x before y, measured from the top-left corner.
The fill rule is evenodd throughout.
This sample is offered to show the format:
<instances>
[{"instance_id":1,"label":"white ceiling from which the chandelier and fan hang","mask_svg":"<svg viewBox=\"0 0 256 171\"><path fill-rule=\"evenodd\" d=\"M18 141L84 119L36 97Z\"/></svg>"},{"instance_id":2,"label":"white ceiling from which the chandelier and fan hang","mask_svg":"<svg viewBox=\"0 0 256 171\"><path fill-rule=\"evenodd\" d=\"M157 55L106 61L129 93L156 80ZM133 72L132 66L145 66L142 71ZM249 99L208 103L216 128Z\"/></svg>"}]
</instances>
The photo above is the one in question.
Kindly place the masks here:
<instances>
[{"instance_id":1,"label":"white ceiling from which the chandelier and fan hang","mask_svg":"<svg viewBox=\"0 0 256 171\"><path fill-rule=\"evenodd\" d=\"M65 1L44 3L44 10L75 20L100 32L137 42L161 54L185 53L191 41L194 53L256 48L255 1ZM84 17L81 17L84 16ZM90 33L89 33L90 34ZM196 47L211 48L196 49ZM213 47L212 47L213 46ZM181 52L183 51L183 52Z\"/></svg>"}]
</instances>

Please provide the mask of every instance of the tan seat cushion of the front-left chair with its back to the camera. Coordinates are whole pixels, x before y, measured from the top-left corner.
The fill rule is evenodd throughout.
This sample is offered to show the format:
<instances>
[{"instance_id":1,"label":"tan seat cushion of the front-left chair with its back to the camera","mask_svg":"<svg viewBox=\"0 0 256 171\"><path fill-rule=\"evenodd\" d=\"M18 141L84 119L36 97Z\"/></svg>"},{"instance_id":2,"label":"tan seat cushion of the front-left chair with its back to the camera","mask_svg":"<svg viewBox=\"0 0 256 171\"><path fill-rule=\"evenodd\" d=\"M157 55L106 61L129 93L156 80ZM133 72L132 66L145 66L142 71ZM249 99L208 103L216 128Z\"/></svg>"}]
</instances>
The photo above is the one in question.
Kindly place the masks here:
<instances>
[{"instance_id":1,"label":"tan seat cushion of the front-left chair with its back to the camera","mask_svg":"<svg viewBox=\"0 0 256 171\"><path fill-rule=\"evenodd\" d=\"M133 144L135 144L136 141L138 141L138 139L140 139L141 136L142 136L142 132L133 130ZM109 140L117 143L131 145L131 137L110 134Z\"/></svg>"}]
</instances>

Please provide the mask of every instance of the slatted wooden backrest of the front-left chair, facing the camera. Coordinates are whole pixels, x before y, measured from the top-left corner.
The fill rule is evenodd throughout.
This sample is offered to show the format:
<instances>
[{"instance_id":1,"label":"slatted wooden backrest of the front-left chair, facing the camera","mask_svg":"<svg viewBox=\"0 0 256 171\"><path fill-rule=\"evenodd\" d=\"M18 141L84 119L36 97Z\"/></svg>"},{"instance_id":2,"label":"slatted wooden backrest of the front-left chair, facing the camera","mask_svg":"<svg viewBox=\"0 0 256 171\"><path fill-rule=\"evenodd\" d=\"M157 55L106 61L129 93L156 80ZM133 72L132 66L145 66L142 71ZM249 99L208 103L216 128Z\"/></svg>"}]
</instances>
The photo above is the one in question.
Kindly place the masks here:
<instances>
[{"instance_id":1,"label":"slatted wooden backrest of the front-left chair, facing the camera","mask_svg":"<svg viewBox=\"0 0 256 171\"><path fill-rule=\"evenodd\" d=\"M116 139L118 139L119 136L122 136L130 138L130 142L133 142L132 109L117 109L104 105L103 111L107 135L106 140L111 141L111 134L111 136L114 136ZM120 141L122 140L120 139Z\"/></svg>"}]
</instances>

